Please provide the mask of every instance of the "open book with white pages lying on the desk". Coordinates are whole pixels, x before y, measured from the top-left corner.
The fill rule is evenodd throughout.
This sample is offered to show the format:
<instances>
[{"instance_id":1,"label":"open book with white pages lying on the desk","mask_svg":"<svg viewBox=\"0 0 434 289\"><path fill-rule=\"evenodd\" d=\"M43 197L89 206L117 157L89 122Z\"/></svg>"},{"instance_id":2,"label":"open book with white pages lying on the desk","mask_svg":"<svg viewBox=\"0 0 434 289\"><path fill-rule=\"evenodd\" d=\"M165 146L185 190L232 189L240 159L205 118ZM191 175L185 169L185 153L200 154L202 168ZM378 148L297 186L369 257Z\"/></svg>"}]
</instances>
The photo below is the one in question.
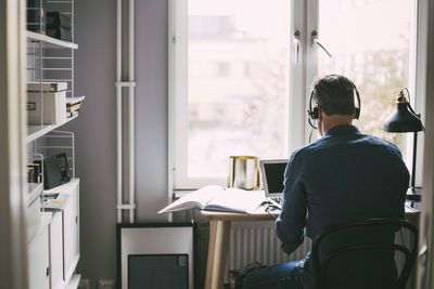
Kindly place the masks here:
<instances>
[{"instance_id":1,"label":"open book with white pages lying on the desk","mask_svg":"<svg viewBox=\"0 0 434 289\"><path fill-rule=\"evenodd\" d=\"M224 188L218 185L204 186L174 201L158 213L190 209L250 213L265 200L264 192Z\"/></svg>"}]
</instances>

